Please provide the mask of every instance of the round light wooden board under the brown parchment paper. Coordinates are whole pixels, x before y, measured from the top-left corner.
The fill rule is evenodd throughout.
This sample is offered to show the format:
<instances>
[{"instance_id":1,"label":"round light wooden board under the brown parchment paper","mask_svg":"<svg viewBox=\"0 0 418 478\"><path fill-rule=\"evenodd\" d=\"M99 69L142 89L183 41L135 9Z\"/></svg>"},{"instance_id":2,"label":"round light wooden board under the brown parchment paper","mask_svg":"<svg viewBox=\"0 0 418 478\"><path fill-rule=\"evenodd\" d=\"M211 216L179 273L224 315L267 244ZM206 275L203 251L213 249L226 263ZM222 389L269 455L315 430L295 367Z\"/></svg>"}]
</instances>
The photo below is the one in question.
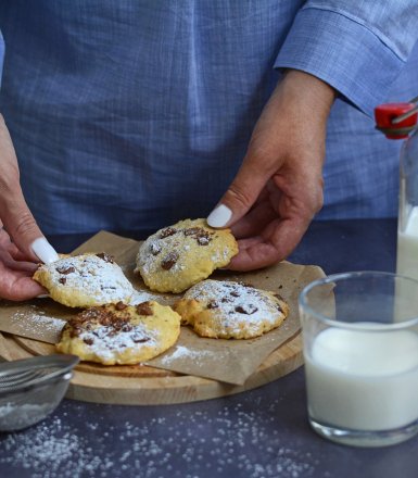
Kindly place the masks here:
<instances>
[{"instance_id":1,"label":"round light wooden board under the brown parchment paper","mask_svg":"<svg viewBox=\"0 0 418 478\"><path fill-rule=\"evenodd\" d=\"M7 361L54 353L54 347L0 334L0 356ZM161 405L216 399L251 390L276 380L303 364L301 334L275 350L243 386L179 375L149 366L100 367L80 364L66 397L85 402L123 405ZM98 372L100 367L100 373Z\"/></svg>"}]
</instances>

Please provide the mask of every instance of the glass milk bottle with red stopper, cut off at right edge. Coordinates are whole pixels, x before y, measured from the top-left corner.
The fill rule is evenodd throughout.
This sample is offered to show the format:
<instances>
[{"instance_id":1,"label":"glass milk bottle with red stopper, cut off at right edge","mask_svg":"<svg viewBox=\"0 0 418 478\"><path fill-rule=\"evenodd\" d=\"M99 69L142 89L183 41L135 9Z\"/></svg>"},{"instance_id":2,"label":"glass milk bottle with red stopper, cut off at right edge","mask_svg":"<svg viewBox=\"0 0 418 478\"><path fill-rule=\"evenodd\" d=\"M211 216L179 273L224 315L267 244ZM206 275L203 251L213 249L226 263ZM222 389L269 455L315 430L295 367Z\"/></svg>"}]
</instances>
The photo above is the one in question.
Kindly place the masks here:
<instances>
[{"instance_id":1,"label":"glass milk bottle with red stopper, cut off at right edge","mask_svg":"<svg viewBox=\"0 0 418 478\"><path fill-rule=\"evenodd\" d=\"M375 117L387 138L406 139L401 150L396 273L418 279L418 114L396 121L414 108L415 103L380 104Z\"/></svg>"}]
</instances>

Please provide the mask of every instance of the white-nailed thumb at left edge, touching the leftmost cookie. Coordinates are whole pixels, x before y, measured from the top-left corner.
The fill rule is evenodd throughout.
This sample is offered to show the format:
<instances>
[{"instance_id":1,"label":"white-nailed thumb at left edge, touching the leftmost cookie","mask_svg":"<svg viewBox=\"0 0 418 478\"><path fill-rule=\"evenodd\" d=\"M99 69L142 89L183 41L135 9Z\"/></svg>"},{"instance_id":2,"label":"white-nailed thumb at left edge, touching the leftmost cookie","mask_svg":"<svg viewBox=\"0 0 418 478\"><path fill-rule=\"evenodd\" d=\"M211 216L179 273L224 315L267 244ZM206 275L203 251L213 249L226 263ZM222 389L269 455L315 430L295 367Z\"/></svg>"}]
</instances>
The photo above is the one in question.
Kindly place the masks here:
<instances>
[{"instance_id":1,"label":"white-nailed thumb at left edge, touching the leftmost cookie","mask_svg":"<svg viewBox=\"0 0 418 478\"><path fill-rule=\"evenodd\" d=\"M20 189L13 198L0 202L0 217L12 241L27 257L46 264L59 255L40 231Z\"/></svg>"}]
</instances>

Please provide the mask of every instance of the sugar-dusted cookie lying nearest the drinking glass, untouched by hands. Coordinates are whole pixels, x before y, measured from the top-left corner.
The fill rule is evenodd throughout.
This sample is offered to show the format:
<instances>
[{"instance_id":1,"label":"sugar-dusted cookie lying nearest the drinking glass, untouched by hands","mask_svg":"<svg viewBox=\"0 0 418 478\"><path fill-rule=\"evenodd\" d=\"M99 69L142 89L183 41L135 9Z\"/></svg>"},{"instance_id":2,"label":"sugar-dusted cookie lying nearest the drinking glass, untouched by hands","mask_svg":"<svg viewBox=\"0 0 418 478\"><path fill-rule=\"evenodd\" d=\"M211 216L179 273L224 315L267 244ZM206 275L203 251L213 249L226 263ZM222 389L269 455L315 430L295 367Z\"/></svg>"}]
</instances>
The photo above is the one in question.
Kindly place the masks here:
<instances>
[{"instance_id":1,"label":"sugar-dusted cookie lying nearest the drinking glass, untouched by hands","mask_svg":"<svg viewBox=\"0 0 418 478\"><path fill-rule=\"evenodd\" d=\"M289 314L278 295L240 282L203 280L177 301L181 322L202 337L251 339L278 327Z\"/></svg>"}]
</instances>

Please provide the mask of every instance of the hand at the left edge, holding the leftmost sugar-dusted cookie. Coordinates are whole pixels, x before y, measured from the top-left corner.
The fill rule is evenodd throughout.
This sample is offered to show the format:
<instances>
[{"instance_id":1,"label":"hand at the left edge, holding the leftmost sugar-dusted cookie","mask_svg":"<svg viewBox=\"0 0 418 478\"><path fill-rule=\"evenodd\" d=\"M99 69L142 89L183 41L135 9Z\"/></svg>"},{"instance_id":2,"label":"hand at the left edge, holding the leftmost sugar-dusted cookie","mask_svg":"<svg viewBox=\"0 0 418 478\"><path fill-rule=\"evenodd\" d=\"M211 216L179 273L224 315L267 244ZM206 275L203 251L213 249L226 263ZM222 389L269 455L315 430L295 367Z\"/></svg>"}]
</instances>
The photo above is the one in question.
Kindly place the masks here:
<instances>
[{"instance_id":1,"label":"hand at the left edge, holding the leftmost sugar-dusted cookie","mask_svg":"<svg viewBox=\"0 0 418 478\"><path fill-rule=\"evenodd\" d=\"M0 227L0 298L17 301L45 293L31 276L40 261L59 257L23 197L16 154L1 114Z\"/></svg>"}]
</instances>

